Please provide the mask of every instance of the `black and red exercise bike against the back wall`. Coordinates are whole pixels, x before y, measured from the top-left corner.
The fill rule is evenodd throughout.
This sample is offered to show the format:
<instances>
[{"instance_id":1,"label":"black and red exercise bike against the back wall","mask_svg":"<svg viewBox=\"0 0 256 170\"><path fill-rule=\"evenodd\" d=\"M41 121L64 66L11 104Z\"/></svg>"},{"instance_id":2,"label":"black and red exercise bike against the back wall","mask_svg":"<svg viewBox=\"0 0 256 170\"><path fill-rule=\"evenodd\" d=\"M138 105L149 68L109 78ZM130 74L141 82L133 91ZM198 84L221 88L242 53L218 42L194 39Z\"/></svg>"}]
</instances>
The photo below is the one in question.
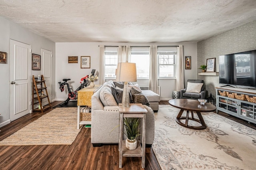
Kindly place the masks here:
<instances>
[{"instance_id":1,"label":"black and red exercise bike against the back wall","mask_svg":"<svg viewBox=\"0 0 256 170\"><path fill-rule=\"evenodd\" d=\"M89 84L89 81L87 80L88 77L89 77L89 75L86 75L85 77L81 78L81 81L83 81L83 83L80 82L81 85L75 91L72 91L72 88L70 88L70 86L68 84L68 81L70 79L63 79L63 82L58 82L60 85L61 92L64 91L64 85L67 85L67 87L68 87L68 99L66 99L63 103L60 103L59 105L63 106L63 105L66 105L68 103L68 101L70 101L70 99L71 100L77 99L77 91L88 86L88 84Z\"/></svg>"}]
</instances>

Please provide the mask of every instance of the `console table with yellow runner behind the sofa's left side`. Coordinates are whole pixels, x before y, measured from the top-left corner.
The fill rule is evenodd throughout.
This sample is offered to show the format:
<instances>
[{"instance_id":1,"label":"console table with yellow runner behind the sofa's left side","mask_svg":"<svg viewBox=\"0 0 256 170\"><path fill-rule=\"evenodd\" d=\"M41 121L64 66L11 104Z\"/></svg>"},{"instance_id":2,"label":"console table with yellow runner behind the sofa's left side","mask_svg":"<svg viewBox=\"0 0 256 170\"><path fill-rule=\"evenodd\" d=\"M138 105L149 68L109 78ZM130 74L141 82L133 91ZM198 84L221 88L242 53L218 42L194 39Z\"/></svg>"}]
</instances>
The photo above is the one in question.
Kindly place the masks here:
<instances>
[{"instance_id":1,"label":"console table with yellow runner behind the sofa's left side","mask_svg":"<svg viewBox=\"0 0 256 170\"><path fill-rule=\"evenodd\" d=\"M91 125L91 121L80 121L80 107L81 106L91 106L92 105L92 95L101 87L102 85L95 85L95 87L84 87L83 89L77 91L77 129L80 125Z\"/></svg>"}]
</instances>

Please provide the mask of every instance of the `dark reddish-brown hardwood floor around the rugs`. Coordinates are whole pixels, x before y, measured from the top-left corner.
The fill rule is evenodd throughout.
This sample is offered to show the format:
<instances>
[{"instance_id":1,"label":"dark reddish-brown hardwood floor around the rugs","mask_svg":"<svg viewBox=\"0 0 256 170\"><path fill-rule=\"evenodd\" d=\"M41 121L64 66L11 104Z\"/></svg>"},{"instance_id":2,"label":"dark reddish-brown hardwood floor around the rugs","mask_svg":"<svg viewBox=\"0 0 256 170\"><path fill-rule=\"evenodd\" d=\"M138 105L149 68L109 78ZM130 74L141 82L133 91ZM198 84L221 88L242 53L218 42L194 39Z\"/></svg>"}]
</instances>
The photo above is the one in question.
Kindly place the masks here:
<instances>
[{"instance_id":1,"label":"dark reddish-brown hardwood floor around the rugs","mask_svg":"<svg viewBox=\"0 0 256 170\"><path fill-rule=\"evenodd\" d=\"M60 101L54 102L52 107L60 103ZM169 105L169 103L160 101L160 105ZM48 111L30 113L1 127L0 140ZM254 124L242 119L222 112L219 112L219 115L256 129ZM93 147L90 141L90 128L82 128L72 145L0 146L0 170L119 170L118 144ZM142 169L141 158L138 157L124 157L122 165L122 170ZM152 148L146 148L145 170L160 170Z\"/></svg>"}]
</instances>

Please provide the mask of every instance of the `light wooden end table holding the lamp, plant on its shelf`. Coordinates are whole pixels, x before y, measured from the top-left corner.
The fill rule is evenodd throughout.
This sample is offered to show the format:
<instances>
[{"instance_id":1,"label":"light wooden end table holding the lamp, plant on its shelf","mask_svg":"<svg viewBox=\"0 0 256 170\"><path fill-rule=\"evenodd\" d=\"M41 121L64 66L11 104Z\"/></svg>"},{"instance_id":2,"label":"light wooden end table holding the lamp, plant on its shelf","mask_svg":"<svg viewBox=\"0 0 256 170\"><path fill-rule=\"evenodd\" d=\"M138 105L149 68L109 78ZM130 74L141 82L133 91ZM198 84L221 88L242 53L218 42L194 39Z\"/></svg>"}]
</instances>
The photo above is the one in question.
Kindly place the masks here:
<instances>
[{"instance_id":1,"label":"light wooden end table holding the lamp, plant on its shelf","mask_svg":"<svg viewBox=\"0 0 256 170\"><path fill-rule=\"evenodd\" d=\"M119 104L120 123L119 123L119 168L122 168L122 157L123 156L136 156L141 157L141 166L145 168L145 136L146 136L146 113L148 111L141 103L131 103L130 107L124 108ZM135 150L128 150L125 146L125 140L123 140L123 118L124 117L138 117L142 118L142 147L140 141L137 141L137 148Z\"/></svg>"}]
</instances>

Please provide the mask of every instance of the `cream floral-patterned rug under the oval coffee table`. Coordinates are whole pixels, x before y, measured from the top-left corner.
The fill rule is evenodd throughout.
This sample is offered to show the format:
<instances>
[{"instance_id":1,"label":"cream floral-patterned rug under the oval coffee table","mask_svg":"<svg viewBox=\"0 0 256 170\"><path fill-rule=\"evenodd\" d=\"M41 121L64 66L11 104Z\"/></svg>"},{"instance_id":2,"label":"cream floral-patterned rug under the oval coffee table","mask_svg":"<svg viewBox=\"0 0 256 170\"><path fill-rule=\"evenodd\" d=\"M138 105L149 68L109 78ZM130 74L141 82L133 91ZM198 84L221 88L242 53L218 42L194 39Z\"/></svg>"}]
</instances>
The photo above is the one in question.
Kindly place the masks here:
<instances>
[{"instance_id":1,"label":"cream floral-patterned rug under the oval coffee table","mask_svg":"<svg viewBox=\"0 0 256 170\"><path fill-rule=\"evenodd\" d=\"M155 113L152 148L162 170L255 170L256 130L212 112L202 113L206 129L185 128L175 121L179 110L160 105Z\"/></svg>"}]
</instances>

